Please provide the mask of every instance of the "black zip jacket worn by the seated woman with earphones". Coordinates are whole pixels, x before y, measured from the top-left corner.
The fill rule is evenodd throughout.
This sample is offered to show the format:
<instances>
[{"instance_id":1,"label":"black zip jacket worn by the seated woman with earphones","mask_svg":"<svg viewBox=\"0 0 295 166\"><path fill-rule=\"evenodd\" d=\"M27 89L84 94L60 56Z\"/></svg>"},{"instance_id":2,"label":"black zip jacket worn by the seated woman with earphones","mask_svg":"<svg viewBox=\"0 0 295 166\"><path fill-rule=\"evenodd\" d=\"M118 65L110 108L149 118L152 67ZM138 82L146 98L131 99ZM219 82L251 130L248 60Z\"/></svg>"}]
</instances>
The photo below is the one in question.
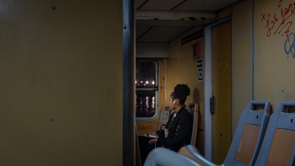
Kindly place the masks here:
<instances>
[{"instance_id":1,"label":"black zip jacket worn by the seated woman with earphones","mask_svg":"<svg viewBox=\"0 0 295 166\"><path fill-rule=\"evenodd\" d=\"M190 144L192 126L193 117L182 107L174 118L171 114L166 124L168 138L159 138L157 142L177 152L182 146Z\"/></svg>"}]
</instances>

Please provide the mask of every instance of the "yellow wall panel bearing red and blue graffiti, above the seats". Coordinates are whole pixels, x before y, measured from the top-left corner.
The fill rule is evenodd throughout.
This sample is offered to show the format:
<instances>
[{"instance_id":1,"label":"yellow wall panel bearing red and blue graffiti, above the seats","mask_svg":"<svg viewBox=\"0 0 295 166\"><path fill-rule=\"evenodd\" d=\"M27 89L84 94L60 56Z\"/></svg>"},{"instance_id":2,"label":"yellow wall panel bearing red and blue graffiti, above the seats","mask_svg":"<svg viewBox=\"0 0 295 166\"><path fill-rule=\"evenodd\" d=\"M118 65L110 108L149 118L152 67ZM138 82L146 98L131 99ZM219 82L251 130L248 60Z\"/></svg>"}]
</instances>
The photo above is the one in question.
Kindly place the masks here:
<instances>
[{"instance_id":1,"label":"yellow wall panel bearing red and blue graffiti, above the seats","mask_svg":"<svg viewBox=\"0 0 295 166\"><path fill-rule=\"evenodd\" d=\"M295 101L294 1L255 1L254 99Z\"/></svg>"}]
</instances>

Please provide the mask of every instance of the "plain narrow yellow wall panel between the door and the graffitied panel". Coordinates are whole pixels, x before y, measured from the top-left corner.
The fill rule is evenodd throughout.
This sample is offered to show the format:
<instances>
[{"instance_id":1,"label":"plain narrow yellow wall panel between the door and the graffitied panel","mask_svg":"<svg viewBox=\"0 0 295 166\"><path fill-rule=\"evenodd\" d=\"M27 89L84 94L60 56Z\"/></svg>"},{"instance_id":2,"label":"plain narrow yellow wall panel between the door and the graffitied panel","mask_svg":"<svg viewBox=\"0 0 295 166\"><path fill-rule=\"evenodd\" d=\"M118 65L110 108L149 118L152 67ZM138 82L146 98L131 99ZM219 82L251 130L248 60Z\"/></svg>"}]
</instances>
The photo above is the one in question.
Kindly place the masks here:
<instances>
[{"instance_id":1,"label":"plain narrow yellow wall panel between the door and the graffitied panel","mask_svg":"<svg viewBox=\"0 0 295 166\"><path fill-rule=\"evenodd\" d=\"M232 9L232 136L252 100L252 0Z\"/></svg>"}]
</instances>

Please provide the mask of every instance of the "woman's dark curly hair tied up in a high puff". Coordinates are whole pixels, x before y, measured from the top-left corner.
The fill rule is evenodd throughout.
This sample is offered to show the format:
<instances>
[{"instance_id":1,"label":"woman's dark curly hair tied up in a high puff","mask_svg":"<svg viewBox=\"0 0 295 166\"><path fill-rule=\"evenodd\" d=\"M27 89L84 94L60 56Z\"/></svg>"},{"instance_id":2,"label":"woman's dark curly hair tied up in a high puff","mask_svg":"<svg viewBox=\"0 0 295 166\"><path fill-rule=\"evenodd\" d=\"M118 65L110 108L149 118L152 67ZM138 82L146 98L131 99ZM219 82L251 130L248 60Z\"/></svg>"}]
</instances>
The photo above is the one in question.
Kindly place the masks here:
<instances>
[{"instance_id":1,"label":"woman's dark curly hair tied up in a high puff","mask_svg":"<svg viewBox=\"0 0 295 166\"><path fill-rule=\"evenodd\" d=\"M189 96L191 93L191 90L186 84L177 84L174 87L174 91L171 93L172 99L179 99L180 104L184 104L186 101L186 96Z\"/></svg>"}]
</instances>

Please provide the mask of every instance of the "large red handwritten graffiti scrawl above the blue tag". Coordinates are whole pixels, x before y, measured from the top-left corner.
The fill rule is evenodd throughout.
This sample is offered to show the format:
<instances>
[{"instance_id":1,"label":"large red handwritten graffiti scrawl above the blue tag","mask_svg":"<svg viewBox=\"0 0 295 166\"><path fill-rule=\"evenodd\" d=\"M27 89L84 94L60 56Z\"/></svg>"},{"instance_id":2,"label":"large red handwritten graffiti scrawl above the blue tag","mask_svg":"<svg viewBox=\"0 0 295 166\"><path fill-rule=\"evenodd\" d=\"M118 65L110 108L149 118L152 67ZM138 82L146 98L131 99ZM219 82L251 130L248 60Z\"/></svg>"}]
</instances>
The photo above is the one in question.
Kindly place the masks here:
<instances>
[{"instance_id":1,"label":"large red handwritten graffiti scrawl above the blue tag","mask_svg":"<svg viewBox=\"0 0 295 166\"><path fill-rule=\"evenodd\" d=\"M280 7L280 9L281 9L280 20L277 18L276 14L273 15L273 18L271 17L271 14L267 14L267 16L265 18L266 14L261 13L261 15L262 15L261 21L263 21L263 20L266 21L265 28L267 29L266 35L268 37L271 35L271 31L274 27L276 27L276 30L273 33L273 35L275 35L277 32L278 32L278 34L280 34L283 29L286 29L285 30L286 37L288 37L288 35L289 35L289 29L292 25L292 21L290 21L290 22L286 22L286 21L289 17L291 17L295 13L295 2L293 4L290 3L288 8L285 8L285 9L283 9L283 7L281 7L282 4L283 4L283 0L280 0L278 2L278 7ZM279 23L279 22L281 22L281 23Z\"/></svg>"}]
</instances>

